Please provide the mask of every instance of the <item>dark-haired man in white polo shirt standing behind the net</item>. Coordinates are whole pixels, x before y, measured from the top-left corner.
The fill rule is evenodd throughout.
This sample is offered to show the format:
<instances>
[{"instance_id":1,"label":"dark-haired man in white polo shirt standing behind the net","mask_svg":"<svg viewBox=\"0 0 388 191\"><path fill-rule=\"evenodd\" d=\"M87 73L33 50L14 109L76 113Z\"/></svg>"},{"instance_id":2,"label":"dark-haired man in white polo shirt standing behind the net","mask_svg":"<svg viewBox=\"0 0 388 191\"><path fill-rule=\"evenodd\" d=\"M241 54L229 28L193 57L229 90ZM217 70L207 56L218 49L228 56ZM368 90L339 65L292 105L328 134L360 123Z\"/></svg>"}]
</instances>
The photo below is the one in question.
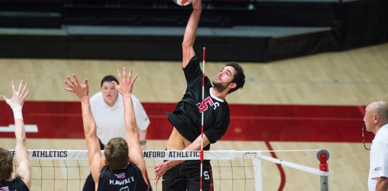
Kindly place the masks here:
<instances>
[{"instance_id":1,"label":"dark-haired man in white polo shirt standing behind the net","mask_svg":"<svg viewBox=\"0 0 388 191\"><path fill-rule=\"evenodd\" d=\"M105 76L101 80L101 91L95 93L90 98L90 108L97 126L97 137L100 140L101 150L104 150L104 146L110 139L114 137L122 137L125 139L126 135L122 95L117 92L112 81L119 84L115 76ZM131 95L131 98L140 147L141 150L146 150L146 135L150 119L148 118L146 111L144 111L140 101L133 94ZM94 182L89 175L83 190L89 190L91 187L94 187Z\"/></svg>"}]
</instances>

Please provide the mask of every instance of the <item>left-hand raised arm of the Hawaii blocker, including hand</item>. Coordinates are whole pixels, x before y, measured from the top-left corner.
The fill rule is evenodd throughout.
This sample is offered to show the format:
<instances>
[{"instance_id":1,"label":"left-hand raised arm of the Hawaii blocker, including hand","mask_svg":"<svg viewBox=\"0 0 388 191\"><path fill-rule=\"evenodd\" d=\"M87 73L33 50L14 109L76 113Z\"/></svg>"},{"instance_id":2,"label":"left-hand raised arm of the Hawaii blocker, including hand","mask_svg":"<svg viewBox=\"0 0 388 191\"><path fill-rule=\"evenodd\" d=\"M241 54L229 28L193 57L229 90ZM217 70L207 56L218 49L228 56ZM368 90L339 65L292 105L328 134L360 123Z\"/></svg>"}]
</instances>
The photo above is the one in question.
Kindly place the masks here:
<instances>
[{"instance_id":1,"label":"left-hand raised arm of the Hawaii blocker, including hand","mask_svg":"<svg viewBox=\"0 0 388 191\"><path fill-rule=\"evenodd\" d=\"M80 84L75 74L73 74L73 77L74 81L67 76L69 82L65 81L65 83L70 88L64 89L75 93L81 101L82 121L87 144L89 166L95 182L95 187L97 188L100 173L105 164L101 157L100 143L96 135L96 125L90 109L89 86L87 84L87 79L84 80L84 84Z\"/></svg>"}]
</instances>

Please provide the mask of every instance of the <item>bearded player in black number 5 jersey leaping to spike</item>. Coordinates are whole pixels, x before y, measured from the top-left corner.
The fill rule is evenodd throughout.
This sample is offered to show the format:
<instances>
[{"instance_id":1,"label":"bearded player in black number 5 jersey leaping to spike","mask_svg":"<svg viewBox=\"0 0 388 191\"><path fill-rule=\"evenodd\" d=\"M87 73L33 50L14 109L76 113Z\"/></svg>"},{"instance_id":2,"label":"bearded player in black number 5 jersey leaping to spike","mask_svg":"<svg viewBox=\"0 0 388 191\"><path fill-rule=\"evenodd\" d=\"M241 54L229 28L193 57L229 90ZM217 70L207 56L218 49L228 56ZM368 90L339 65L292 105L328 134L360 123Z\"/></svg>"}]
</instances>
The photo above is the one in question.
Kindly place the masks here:
<instances>
[{"instance_id":1,"label":"bearded player in black number 5 jersey leaping to spike","mask_svg":"<svg viewBox=\"0 0 388 191\"><path fill-rule=\"evenodd\" d=\"M202 71L193 50L201 17L201 0L193 0L192 13L187 22L182 42L183 72L187 82L186 92L173 113L167 113L173 126L167 142L167 150L201 150L201 111L204 110L204 150L210 149L220 139L230 122L226 95L245 83L243 69L235 62L229 62L213 81L205 77L204 105L202 105ZM200 161L166 161L154 169L155 184L163 176L163 190L199 190ZM213 188L210 161L203 162L203 189Z\"/></svg>"}]
</instances>

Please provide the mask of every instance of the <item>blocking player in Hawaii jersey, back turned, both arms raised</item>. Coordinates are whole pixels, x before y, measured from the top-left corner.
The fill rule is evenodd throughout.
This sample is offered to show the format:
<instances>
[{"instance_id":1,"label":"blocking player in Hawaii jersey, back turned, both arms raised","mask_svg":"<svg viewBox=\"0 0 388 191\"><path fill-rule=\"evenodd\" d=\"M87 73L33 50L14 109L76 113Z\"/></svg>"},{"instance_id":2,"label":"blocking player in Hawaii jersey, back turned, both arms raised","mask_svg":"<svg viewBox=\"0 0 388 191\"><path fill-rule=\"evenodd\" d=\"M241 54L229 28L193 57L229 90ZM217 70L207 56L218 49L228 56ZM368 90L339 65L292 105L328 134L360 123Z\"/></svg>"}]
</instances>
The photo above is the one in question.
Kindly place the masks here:
<instances>
[{"instance_id":1,"label":"blocking player in Hawaii jersey, back turned, both arms raised","mask_svg":"<svg viewBox=\"0 0 388 191\"><path fill-rule=\"evenodd\" d=\"M144 172L146 164L143 159L139 138L136 131L136 119L132 105L133 79L132 70L129 71L126 78L126 68L124 67L123 76L117 70L120 85L115 84L117 91L122 94L124 104L124 121L126 127L126 140L121 137L112 138L105 146L105 160L101 156L100 142L96 135L96 125L91 113L89 103L89 87L87 79L84 84L80 84L77 77L73 74L74 81L67 76L65 83L70 88L64 88L67 91L74 92L81 100L82 119L89 156L89 166L91 175L95 182L95 190L148 190L149 185L146 181Z\"/></svg>"}]
</instances>

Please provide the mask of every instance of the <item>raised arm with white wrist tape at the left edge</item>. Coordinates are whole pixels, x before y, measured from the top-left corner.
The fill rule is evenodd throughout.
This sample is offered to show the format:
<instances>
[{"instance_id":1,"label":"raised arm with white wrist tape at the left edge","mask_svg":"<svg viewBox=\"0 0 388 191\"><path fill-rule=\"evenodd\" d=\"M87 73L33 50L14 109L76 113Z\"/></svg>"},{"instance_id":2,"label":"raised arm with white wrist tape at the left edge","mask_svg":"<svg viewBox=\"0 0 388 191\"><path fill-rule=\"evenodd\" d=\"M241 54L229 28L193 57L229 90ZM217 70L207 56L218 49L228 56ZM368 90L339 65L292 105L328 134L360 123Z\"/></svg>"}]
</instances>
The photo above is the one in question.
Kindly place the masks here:
<instances>
[{"instance_id":1,"label":"raised arm with white wrist tape at the left edge","mask_svg":"<svg viewBox=\"0 0 388 191\"><path fill-rule=\"evenodd\" d=\"M20 82L18 90L15 89L14 81L12 84L13 96L11 99L7 99L4 95L1 97L11 106L14 112L15 118L15 137L16 137L16 161L19 163L19 167L16 170L16 176L20 177L29 189L31 189L31 165L28 157L27 145L26 145L26 132L24 130L24 122L22 116L22 107L24 100L26 99L28 92L28 84L25 84L23 89L23 80Z\"/></svg>"}]
</instances>

